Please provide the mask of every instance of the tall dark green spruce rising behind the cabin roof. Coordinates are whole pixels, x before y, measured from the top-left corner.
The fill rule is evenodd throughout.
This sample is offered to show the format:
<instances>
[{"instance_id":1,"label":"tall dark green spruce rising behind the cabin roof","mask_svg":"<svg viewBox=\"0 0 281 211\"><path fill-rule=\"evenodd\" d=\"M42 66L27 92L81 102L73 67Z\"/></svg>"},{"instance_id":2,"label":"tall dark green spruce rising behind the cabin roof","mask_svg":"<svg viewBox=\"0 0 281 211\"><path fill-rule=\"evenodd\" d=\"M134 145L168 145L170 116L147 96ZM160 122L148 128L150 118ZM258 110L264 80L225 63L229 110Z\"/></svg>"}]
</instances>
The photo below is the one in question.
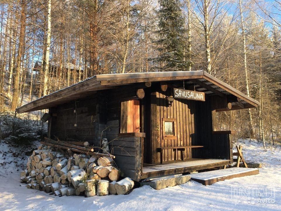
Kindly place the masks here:
<instances>
[{"instance_id":1,"label":"tall dark green spruce rising behind the cabin roof","mask_svg":"<svg viewBox=\"0 0 281 211\"><path fill-rule=\"evenodd\" d=\"M158 69L162 71L184 71L189 61L185 49L185 19L182 5L179 0L159 0L160 9L157 11L159 55L153 60L157 62Z\"/></svg>"}]
</instances>

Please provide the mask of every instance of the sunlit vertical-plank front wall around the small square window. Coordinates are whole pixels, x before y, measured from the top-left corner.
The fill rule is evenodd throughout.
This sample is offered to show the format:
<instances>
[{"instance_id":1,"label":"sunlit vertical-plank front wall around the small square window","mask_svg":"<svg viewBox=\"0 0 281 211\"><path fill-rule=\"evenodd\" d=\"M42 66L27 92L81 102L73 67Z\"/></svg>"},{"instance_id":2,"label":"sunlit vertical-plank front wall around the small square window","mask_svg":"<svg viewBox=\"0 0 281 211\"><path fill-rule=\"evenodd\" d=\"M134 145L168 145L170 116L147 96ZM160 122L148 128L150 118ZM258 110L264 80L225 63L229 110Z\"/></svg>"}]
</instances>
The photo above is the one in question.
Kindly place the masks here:
<instances>
[{"instance_id":1,"label":"sunlit vertical-plank front wall around the small square window","mask_svg":"<svg viewBox=\"0 0 281 211\"><path fill-rule=\"evenodd\" d=\"M190 146L195 138L195 120L196 110L195 101L185 99L175 99L171 105L167 101L167 96L173 95L172 89L167 91L156 91L151 93L151 140L152 140L152 163L160 163L159 147L179 147ZM163 139L162 118L175 118L177 124L177 138ZM191 158L191 150L184 149L175 154L173 149L165 149L163 152L164 162Z\"/></svg>"}]
</instances>

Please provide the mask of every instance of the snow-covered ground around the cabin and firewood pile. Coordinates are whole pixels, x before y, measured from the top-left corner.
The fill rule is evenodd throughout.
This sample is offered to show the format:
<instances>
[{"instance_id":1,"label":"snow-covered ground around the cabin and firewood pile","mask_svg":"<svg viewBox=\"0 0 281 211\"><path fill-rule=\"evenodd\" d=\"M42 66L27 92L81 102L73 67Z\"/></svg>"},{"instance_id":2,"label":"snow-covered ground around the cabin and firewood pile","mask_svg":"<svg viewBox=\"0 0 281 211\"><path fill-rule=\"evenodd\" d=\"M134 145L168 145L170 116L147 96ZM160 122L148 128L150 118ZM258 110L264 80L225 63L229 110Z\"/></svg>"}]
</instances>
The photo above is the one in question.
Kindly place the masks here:
<instances>
[{"instance_id":1,"label":"snow-covered ground around the cabin and firewood pile","mask_svg":"<svg viewBox=\"0 0 281 211\"><path fill-rule=\"evenodd\" d=\"M143 186L134 189L129 195L91 198L57 197L27 189L19 181L19 172L11 173L26 160L13 160L12 153L8 152L4 157L9 162L0 166L0 210L281 210L281 148L268 146L263 149L262 144L253 141L240 141L238 144L243 145L246 160L263 163L258 175L225 180L210 186L194 181L162 190ZM2 142L1 163L4 161L3 152L8 150L7 144ZM267 194L274 187L275 203L258 203L251 198L236 201L232 199L231 188L239 186L265 187Z\"/></svg>"}]
</instances>

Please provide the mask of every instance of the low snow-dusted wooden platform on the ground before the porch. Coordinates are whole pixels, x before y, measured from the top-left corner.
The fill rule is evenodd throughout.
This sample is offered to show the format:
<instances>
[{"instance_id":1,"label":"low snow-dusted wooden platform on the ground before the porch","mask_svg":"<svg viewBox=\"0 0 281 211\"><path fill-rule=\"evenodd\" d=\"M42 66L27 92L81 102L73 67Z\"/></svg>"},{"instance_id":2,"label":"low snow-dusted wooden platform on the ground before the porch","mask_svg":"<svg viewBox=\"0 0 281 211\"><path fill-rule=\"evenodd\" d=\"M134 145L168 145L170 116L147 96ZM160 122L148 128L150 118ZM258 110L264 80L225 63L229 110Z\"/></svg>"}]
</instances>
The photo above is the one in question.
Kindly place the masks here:
<instances>
[{"instance_id":1,"label":"low snow-dusted wooden platform on the ground before the porch","mask_svg":"<svg viewBox=\"0 0 281 211\"><path fill-rule=\"evenodd\" d=\"M258 174L258 169L234 167L229 169L220 169L215 171L206 171L191 174L191 180L199 182L203 185L212 185L218 181L232 179L236 177L250 176Z\"/></svg>"}]
</instances>

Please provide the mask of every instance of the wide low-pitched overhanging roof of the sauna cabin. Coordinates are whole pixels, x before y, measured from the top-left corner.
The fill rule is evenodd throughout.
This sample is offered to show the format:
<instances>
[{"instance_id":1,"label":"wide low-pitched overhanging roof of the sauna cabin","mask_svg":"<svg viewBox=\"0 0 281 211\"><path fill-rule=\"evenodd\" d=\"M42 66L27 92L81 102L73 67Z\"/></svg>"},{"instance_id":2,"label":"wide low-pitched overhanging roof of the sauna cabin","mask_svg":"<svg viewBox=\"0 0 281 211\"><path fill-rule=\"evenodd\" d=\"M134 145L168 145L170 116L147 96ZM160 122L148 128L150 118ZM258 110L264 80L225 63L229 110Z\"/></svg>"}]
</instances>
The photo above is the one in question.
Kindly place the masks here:
<instances>
[{"instance_id":1,"label":"wide low-pitched overhanging roof of the sauna cabin","mask_svg":"<svg viewBox=\"0 0 281 211\"><path fill-rule=\"evenodd\" d=\"M124 74L102 74L95 75L77 84L73 84L64 89L55 91L43 96L24 106L16 109L18 113L47 109L75 99L92 95L97 90L116 89L118 86L143 83L143 82L172 82L185 81L186 85L195 84L196 91L205 92L206 95L219 95L226 97L233 95L239 98L239 102L232 103L232 109L254 108L259 102L248 97L244 93L234 89L232 86L211 76L207 72L201 71L178 71L178 72L143 72Z\"/></svg>"}]
</instances>

